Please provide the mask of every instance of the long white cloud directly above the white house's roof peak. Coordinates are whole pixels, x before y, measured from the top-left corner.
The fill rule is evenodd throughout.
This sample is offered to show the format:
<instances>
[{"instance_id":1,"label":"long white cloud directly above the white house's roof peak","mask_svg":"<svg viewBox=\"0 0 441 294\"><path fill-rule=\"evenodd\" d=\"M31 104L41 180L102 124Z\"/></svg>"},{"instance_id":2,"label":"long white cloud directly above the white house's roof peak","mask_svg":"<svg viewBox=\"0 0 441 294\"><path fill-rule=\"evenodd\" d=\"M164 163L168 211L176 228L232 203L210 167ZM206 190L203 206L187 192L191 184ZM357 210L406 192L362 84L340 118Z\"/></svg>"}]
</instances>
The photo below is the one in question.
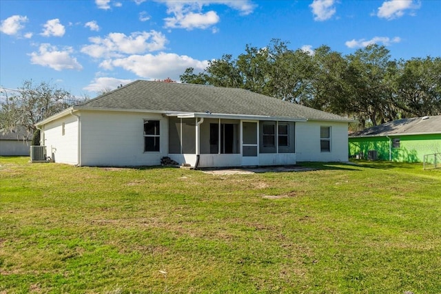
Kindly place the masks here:
<instances>
[{"instance_id":1,"label":"long white cloud directly above the white house's roof peak","mask_svg":"<svg viewBox=\"0 0 441 294\"><path fill-rule=\"evenodd\" d=\"M202 72L208 66L208 61L198 61L185 55L161 52L156 55L132 55L105 61L100 66L121 67L142 78L164 79L170 77L174 81L179 81L179 76L185 69L193 67L195 72Z\"/></svg>"}]
</instances>

